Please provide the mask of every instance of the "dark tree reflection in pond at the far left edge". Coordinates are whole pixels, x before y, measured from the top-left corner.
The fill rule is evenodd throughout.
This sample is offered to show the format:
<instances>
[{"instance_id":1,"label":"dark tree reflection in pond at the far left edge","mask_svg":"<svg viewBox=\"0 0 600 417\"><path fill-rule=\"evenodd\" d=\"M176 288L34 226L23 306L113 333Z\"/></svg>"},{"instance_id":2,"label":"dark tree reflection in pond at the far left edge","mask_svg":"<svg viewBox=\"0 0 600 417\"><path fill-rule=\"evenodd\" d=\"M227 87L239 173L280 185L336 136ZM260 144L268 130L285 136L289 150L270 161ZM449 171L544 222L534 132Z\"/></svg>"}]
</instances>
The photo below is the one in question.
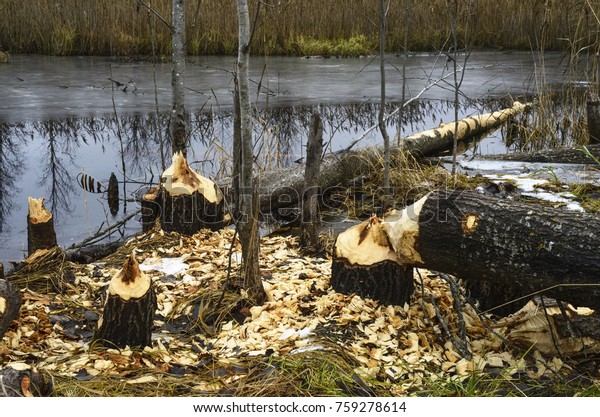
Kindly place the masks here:
<instances>
[{"instance_id":1,"label":"dark tree reflection in pond at the far left edge","mask_svg":"<svg viewBox=\"0 0 600 417\"><path fill-rule=\"evenodd\" d=\"M23 174L19 129L0 124L0 232L4 219L13 209L13 198L19 193L16 180Z\"/></svg>"}]
</instances>

